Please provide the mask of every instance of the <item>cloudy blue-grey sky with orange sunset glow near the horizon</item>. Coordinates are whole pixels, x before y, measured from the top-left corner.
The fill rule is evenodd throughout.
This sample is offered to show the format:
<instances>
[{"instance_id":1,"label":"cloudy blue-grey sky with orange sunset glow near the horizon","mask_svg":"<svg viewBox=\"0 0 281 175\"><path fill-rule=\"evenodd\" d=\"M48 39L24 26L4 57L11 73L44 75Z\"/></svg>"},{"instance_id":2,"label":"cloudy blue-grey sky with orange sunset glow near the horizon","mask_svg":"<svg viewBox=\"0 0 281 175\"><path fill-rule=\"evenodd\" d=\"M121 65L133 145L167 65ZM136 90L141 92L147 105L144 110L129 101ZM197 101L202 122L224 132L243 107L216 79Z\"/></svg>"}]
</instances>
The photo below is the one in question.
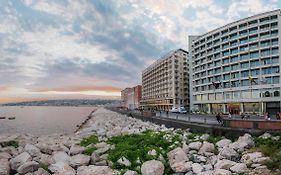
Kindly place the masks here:
<instances>
[{"instance_id":1,"label":"cloudy blue-grey sky with orange sunset glow near the horizon","mask_svg":"<svg viewBox=\"0 0 281 175\"><path fill-rule=\"evenodd\" d=\"M2 0L0 103L119 98L188 35L281 7L278 0Z\"/></svg>"}]
</instances>

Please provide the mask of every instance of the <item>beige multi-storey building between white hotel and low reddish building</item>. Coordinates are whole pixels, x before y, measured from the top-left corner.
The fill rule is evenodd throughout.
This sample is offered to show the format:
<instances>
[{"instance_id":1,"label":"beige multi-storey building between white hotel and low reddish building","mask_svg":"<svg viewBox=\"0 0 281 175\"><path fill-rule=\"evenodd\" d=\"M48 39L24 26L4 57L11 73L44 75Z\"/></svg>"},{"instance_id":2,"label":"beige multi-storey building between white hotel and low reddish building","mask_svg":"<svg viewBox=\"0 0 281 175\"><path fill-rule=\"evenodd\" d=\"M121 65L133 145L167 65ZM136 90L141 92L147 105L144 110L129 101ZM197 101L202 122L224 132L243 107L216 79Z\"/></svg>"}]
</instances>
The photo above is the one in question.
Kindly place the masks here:
<instances>
[{"instance_id":1,"label":"beige multi-storey building between white hotel and low reddish building","mask_svg":"<svg viewBox=\"0 0 281 175\"><path fill-rule=\"evenodd\" d=\"M189 108L188 52L171 51L142 72L144 109L170 110L173 106Z\"/></svg>"}]
</instances>

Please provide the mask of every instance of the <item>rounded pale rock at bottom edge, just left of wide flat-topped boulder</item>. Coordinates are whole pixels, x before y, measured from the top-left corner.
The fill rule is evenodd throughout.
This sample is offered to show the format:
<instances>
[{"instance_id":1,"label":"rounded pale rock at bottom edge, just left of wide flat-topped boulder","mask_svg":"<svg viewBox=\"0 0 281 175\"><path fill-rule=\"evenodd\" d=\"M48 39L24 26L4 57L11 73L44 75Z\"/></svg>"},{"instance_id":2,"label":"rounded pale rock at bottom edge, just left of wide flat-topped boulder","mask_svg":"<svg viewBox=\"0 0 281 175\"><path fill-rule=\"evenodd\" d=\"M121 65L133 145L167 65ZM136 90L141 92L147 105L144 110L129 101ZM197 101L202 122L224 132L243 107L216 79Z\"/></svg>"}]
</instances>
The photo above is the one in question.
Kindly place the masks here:
<instances>
[{"instance_id":1,"label":"rounded pale rock at bottom edge, just left of wide flat-topped boulder","mask_svg":"<svg viewBox=\"0 0 281 175\"><path fill-rule=\"evenodd\" d=\"M52 173L75 175L75 170L65 162L57 162L48 167Z\"/></svg>"}]
</instances>

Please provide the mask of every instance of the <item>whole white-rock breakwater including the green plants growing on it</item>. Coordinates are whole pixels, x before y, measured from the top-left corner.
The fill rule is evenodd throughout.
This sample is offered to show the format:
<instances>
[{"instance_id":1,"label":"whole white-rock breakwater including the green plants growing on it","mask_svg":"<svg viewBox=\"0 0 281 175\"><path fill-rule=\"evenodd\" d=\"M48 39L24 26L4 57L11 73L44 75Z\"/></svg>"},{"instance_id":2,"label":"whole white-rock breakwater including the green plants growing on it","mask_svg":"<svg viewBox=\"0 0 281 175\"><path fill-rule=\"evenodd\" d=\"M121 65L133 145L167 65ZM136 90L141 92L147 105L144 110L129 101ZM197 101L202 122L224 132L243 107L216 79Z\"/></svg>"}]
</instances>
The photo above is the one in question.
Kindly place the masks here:
<instances>
[{"instance_id":1,"label":"whole white-rock breakwater including the green plants growing on it","mask_svg":"<svg viewBox=\"0 0 281 175\"><path fill-rule=\"evenodd\" d=\"M259 139L275 140L269 134ZM260 140L259 140L260 143ZM274 174L245 134L237 140L143 122L99 108L75 134L0 137L0 175Z\"/></svg>"}]
</instances>

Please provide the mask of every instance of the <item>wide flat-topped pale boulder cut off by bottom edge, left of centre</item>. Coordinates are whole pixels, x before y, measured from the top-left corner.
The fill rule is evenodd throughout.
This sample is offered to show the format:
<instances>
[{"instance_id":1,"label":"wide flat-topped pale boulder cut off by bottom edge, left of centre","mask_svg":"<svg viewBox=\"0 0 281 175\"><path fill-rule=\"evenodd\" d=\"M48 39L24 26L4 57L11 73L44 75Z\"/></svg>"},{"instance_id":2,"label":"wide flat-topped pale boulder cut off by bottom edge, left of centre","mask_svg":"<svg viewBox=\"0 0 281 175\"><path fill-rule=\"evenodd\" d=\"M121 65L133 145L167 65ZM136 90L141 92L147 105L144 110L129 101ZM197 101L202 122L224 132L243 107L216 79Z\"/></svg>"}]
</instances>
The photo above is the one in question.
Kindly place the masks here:
<instances>
[{"instance_id":1,"label":"wide flat-topped pale boulder cut off by bottom edge, left of centre","mask_svg":"<svg viewBox=\"0 0 281 175\"><path fill-rule=\"evenodd\" d=\"M77 175L116 175L108 166L80 166L77 169Z\"/></svg>"}]
</instances>

